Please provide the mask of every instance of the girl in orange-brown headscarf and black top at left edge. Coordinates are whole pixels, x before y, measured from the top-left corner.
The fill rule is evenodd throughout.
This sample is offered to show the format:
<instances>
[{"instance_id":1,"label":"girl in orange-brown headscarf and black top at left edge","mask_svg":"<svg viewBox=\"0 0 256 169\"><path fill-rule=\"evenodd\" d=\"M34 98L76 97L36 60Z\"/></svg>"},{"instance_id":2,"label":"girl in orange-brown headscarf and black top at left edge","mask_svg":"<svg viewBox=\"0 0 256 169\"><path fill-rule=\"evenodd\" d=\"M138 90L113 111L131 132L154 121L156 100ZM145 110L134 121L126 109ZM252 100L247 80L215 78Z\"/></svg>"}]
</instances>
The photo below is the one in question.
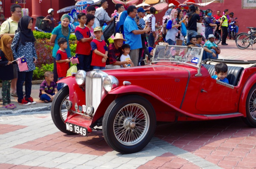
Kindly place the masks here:
<instances>
[{"instance_id":1,"label":"girl in orange-brown headscarf and black top at left edge","mask_svg":"<svg viewBox=\"0 0 256 169\"><path fill-rule=\"evenodd\" d=\"M2 102L3 108L14 109L16 106L11 103L11 80L13 76L13 53L11 51L11 36L4 35L0 39L0 79L2 80ZM14 63L14 62L13 62ZM8 73L7 73L8 72Z\"/></svg>"}]
</instances>

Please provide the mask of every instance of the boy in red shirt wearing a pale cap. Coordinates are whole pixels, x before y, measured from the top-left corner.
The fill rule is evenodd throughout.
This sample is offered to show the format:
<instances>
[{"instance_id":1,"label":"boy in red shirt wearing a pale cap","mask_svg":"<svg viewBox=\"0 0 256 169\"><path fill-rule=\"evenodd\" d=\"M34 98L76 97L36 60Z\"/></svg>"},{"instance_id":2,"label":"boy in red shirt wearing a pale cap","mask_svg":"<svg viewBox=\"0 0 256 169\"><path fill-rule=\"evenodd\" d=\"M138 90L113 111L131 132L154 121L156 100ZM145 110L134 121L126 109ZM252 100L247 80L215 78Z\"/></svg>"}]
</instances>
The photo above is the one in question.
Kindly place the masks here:
<instances>
[{"instance_id":1,"label":"boy in red shirt wearing a pale cap","mask_svg":"<svg viewBox=\"0 0 256 169\"><path fill-rule=\"evenodd\" d=\"M106 60L108 58L108 48L107 44L104 40L101 39L101 36L103 35L102 28L97 26L93 30L95 39L90 43L92 49L93 49L93 58L91 65L93 66L93 69L105 69L106 66Z\"/></svg>"}]
</instances>

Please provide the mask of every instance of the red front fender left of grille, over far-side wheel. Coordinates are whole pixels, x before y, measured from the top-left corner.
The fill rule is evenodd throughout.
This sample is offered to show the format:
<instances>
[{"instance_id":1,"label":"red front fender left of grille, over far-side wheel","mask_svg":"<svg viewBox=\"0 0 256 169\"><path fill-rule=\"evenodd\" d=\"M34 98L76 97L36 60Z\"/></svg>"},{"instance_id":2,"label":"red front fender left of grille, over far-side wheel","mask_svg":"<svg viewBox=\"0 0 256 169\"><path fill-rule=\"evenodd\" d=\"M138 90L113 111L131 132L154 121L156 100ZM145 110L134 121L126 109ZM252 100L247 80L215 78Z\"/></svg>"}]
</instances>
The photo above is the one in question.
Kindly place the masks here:
<instances>
[{"instance_id":1,"label":"red front fender left of grille, over far-side wheel","mask_svg":"<svg viewBox=\"0 0 256 169\"><path fill-rule=\"evenodd\" d=\"M69 88L69 100L73 104L72 108L75 107L75 103L77 103L77 105L85 105L85 91L77 85L74 76L68 76L60 79L57 83L67 84Z\"/></svg>"}]
</instances>

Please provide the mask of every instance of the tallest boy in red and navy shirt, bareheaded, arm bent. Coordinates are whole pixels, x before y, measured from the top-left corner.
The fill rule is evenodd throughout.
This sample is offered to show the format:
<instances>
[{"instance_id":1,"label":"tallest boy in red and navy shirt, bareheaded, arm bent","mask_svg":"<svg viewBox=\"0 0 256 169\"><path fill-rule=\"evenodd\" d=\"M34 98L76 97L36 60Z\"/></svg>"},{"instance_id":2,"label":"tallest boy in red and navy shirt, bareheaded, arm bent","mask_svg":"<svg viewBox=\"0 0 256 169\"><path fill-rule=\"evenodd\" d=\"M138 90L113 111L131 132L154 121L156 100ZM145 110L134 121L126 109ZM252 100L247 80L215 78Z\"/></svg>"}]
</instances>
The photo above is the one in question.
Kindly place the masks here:
<instances>
[{"instance_id":1,"label":"tallest boy in red and navy shirt, bareheaded, arm bent","mask_svg":"<svg viewBox=\"0 0 256 169\"><path fill-rule=\"evenodd\" d=\"M77 19L79 21L79 26L75 28L75 36L77 38L75 53L77 53L77 58L79 60L77 69L88 72L92 61L92 56L90 55L90 42L93 40L93 36L91 36L89 28L84 26L86 23L86 14L79 13Z\"/></svg>"}]
</instances>

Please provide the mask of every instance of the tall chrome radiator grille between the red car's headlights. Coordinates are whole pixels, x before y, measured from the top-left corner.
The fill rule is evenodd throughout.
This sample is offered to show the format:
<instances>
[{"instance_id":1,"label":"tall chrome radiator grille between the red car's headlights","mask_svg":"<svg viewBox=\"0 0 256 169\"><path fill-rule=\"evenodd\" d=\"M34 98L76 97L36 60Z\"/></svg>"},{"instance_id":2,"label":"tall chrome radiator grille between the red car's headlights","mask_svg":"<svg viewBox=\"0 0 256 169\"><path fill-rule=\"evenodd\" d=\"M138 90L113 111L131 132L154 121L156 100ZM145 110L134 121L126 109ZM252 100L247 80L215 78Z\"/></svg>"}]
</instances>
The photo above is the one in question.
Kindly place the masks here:
<instances>
[{"instance_id":1,"label":"tall chrome radiator grille between the red car's headlights","mask_svg":"<svg viewBox=\"0 0 256 169\"><path fill-rule=\"evenodd\" d=\"M97 110L102 95L102 77L86 75L86 106L91 105L94 112Z\"/></svg>"}]
</instances>

